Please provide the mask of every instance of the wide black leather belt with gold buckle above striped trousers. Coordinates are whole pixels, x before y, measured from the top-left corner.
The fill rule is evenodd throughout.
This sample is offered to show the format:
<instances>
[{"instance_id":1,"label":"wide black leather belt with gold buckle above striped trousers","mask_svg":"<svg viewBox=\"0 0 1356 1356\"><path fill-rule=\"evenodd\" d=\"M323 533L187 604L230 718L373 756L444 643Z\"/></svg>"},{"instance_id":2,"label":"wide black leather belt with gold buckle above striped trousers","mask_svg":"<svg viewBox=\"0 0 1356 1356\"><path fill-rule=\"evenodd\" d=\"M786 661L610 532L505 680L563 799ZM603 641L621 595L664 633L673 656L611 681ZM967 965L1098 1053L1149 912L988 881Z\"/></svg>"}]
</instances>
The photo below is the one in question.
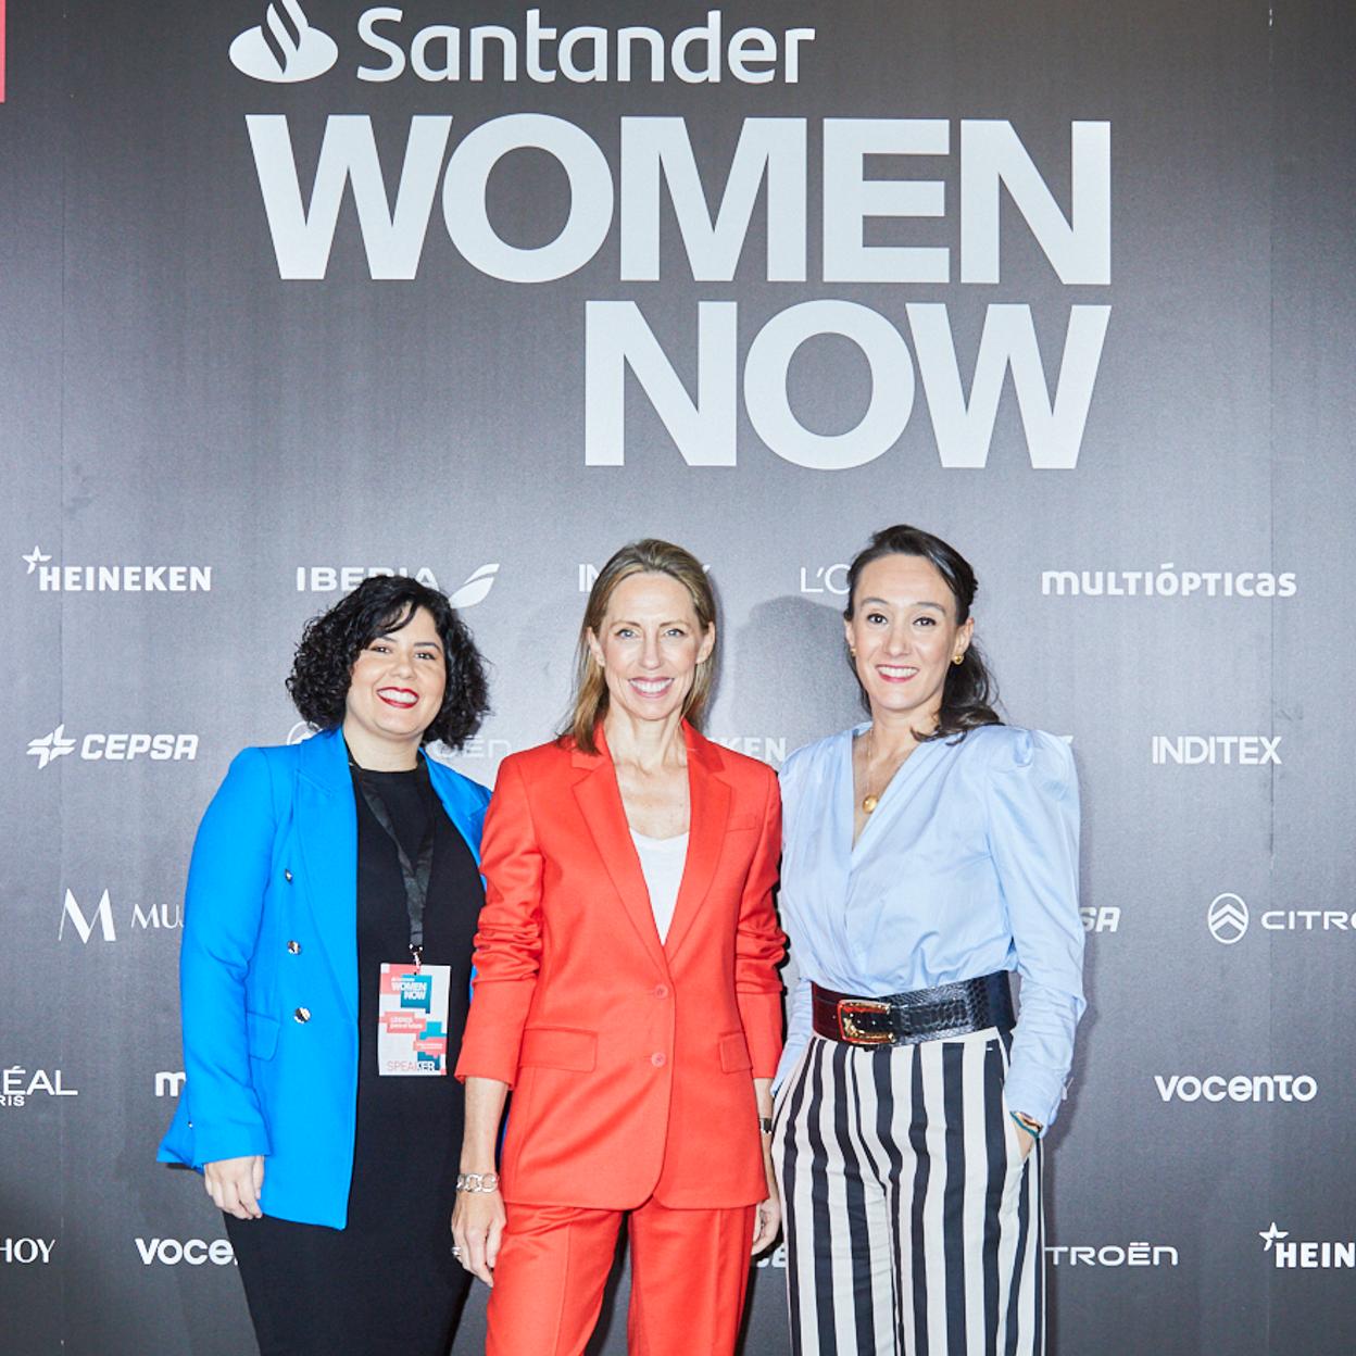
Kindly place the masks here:
<instances>
[{"instance_id":1,"label":"wide black leather belt with gold buckle above striped trousers","mask_svg":"<svg viewBox=\"0 0 1356 1356\"><path fill-rule=\"evenodd\" d=\"M989 1026L1012 1031L1017 1021L1006 970L880 998L835 994L819 984L811 990L816 1035L846 1045L918 1045Z\"/></svg>"}]
</instances>

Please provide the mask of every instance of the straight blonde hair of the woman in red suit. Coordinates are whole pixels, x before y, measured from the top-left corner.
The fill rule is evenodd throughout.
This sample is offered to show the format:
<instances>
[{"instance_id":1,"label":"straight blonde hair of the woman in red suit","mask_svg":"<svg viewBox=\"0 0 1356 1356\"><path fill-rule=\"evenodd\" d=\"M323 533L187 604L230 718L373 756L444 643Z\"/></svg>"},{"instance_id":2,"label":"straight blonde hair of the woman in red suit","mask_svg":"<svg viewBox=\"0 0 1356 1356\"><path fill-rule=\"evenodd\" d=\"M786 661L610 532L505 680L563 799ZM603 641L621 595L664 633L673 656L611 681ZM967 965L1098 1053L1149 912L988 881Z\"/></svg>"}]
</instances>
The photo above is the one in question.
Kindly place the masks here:
<instances>
[{"instance_id":1,"label":"straight blonde hair of the woman in red suit","mask_svg":"<svg viewBox=\"0 0 1356 1356\"><path fill-rule=\"evenodd\" d=\"M602 666L589 650L589 633L593 632L594 636L601 633L612 595L617 591L617 586L632 575L669 575L670 579L677 579L687 590L702 635L716 625L716 594L706 571L701 568L701 561L690 551L683 551L671 541L660 541L658 537L645 537L622 546L598 571L598 578L589 593L584 620L579 625L575 694L561 738L572 739L580 753L598 753L594 727L607 711L607 679L603 677ZM712 650L711 655L697 664L697 673L683 702L683 720L690 720L693 724L701 720L715 681L716 651Z\"/></svg>"}]
</instances>

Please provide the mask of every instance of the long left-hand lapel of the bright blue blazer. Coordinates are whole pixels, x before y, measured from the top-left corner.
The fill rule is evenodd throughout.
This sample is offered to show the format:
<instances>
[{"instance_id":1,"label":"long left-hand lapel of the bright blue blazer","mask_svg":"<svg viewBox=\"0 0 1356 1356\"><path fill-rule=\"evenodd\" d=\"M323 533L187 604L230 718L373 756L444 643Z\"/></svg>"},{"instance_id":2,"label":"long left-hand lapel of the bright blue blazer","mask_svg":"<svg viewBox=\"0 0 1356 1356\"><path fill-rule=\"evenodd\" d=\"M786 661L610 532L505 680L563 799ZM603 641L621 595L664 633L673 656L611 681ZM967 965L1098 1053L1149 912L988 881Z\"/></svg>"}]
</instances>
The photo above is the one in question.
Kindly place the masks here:
<instances>
[{"instance_id":1,"label":"long left-hand lapel of the bright blue blazer","mask_svg":"<svg viewBox=\"0 0 1356 1356\"><path fill-rule=\"evenodd\" d=\"M301 892L335 972L348 1014L358 1020L358 811L348 750L338 730L312 735L300 750L297 842Z\"/></svg>"}]
</instances>

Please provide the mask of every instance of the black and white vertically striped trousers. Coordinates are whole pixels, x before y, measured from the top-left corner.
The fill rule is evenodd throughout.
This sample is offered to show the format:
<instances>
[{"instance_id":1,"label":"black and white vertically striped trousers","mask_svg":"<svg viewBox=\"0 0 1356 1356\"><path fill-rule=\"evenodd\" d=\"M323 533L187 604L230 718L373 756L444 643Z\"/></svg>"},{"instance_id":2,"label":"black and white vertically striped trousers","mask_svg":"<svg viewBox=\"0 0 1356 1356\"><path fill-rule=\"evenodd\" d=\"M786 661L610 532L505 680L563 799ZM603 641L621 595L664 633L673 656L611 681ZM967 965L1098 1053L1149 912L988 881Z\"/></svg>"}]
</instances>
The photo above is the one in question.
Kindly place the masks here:
<instances>
[{"instance_id":1,"label":"black and white vertically striped trousers","mask_svg":"<svg viewBox=\"0 0 1356 1356\"><path fill-rule=\"evenodd\" d=\"M1003 1102L1012 1037L811 1036L777 1097L795 1356L1040 1356L1037 1143Z\"/></svg>"}]
</instances>

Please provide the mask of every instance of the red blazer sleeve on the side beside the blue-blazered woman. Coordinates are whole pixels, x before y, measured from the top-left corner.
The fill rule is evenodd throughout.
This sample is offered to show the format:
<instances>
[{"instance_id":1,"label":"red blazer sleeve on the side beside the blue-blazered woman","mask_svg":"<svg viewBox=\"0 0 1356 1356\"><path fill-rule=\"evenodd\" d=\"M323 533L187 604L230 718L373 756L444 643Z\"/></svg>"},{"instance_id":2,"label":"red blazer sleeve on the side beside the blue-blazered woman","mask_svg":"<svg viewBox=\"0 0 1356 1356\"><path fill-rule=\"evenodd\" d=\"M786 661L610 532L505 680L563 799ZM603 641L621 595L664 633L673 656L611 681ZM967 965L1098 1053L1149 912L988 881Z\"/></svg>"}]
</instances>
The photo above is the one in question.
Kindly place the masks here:
<instances>
[{"instance_id":1,"label":"red blazer sleeve on the side beside the blue-blazered woman","mask_svg":"<svg viewBox=\"0 0 1356 1356\"><path fill-rule=\"evenodd\" d=\"M522 1028L541 968L542 856L527 785L504 759L480 839L485 903L476 932L475 979L457 1078L518 1075Z\"/></svg>"}]
</instances>

